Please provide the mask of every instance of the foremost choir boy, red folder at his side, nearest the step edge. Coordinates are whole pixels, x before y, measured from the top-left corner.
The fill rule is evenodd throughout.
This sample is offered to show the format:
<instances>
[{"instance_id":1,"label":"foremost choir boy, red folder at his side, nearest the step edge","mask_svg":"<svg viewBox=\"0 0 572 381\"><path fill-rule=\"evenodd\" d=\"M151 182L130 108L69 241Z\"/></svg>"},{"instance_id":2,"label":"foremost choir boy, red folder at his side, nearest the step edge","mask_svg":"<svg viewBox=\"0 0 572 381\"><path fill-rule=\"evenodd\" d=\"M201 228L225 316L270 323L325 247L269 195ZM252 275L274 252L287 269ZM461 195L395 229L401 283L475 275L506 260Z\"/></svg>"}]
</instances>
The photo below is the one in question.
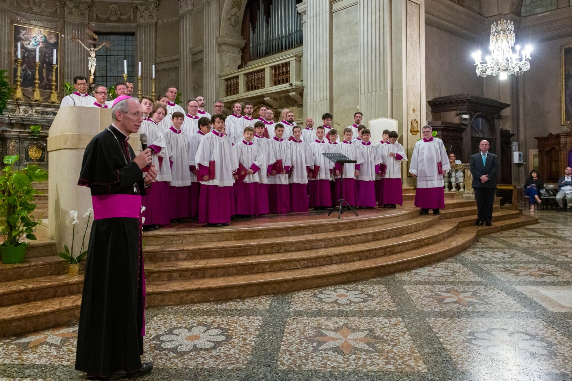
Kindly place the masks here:
<instances>
[{"instance_id":1,"label":"foremost choir boy, red folder at his side, nearest the step edge","mask_svg":"<svg viewBox=\"0 0 572 381\"><path fill-rule=\"evenodd\" d=\"M223 134L223 114L215 114L210 120L215 129L202 138L195 155L198 176L202 177L198 223L221 227L228 226L235 214L232 174L239 168L239 161L231 140Z\"/></svg>"}]
</instances>

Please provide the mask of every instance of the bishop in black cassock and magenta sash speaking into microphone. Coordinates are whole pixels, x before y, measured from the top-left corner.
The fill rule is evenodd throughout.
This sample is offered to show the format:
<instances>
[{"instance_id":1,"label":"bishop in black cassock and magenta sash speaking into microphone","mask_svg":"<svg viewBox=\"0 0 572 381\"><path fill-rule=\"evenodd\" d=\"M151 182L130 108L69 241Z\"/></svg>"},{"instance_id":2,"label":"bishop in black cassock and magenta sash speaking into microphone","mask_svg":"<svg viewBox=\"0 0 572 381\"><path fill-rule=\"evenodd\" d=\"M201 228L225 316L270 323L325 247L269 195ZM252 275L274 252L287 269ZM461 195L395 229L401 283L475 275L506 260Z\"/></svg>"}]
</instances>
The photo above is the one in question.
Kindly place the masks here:
<instances>
[{"instance_id":1,"label":"bishop in black cassock and magenta sash speaking into microphone","mask_svg":"<svg viewBox=\"0 0 572 381\"><path fill-rule=\"evenodd\" d=\"M85 149L78 185L92 193L94 221L85 270L76 369L88 379L116 380L148 373L141 363L145 335L145 273L141 196L157 170L150 150L135 156L128 143L142 123L136 98L116 102L113 124Z\"/></svg>"}]
</instances>

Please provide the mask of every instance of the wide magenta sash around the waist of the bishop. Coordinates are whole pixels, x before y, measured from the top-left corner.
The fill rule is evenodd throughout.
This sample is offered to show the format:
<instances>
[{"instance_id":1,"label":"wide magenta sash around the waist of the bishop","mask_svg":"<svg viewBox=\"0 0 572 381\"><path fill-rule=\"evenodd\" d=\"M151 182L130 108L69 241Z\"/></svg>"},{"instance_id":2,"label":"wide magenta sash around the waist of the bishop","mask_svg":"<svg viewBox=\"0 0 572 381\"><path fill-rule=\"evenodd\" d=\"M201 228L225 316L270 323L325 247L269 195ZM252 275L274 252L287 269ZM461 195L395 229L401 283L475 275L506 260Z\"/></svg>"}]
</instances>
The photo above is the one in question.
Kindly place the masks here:
<instances>
[{"instance_id":1,"label":"wide magenta sash around the waist of the bishop","mask_svg":"<svg viewBox=\"0 0 572 381\"><path fill-rule=\"evenodd\" d=\"M138 219L141 213L139 195L102 195L92 196L93 219L111 219L128 217Z\"/></svg>"}]
</instances>

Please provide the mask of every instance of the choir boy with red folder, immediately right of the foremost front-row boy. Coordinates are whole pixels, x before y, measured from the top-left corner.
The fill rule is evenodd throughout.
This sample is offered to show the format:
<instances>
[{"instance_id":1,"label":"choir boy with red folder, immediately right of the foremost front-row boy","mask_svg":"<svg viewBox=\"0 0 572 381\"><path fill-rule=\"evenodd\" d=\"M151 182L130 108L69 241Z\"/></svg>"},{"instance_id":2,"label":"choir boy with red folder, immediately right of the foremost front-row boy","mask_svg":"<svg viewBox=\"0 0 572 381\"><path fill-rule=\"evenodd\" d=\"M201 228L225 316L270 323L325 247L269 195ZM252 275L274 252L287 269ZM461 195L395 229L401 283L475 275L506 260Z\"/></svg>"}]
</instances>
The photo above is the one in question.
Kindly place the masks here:
<instances>
[{"instance_id":1,"label":"choir boy with red folder, immediately right of the foremost front-row boy","mask_svg":"<svg viewBox=\"0 0 572 381\"><path fill-rule=\"evenodd\" d=\"M265 157L259 146L252 142L254 128L246 126L243 137L243 141L232 147L239 161L239 169L234 175L235 211L237 215L252 217L258 209L258 172L266 172Z\"/></svg>"}]
</instances>

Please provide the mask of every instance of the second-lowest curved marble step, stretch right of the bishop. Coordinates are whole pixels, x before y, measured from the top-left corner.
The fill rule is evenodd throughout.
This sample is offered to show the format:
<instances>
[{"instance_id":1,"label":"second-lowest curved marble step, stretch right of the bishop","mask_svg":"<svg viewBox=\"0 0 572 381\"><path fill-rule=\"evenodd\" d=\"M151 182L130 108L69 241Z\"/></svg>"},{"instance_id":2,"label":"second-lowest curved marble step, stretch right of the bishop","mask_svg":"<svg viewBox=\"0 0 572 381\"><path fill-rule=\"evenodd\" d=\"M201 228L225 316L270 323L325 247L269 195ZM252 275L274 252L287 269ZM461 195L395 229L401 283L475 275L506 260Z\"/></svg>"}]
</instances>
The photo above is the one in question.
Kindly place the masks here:
<instances>
[{"instance_id":1,"label":"second-lowest curved marble step, stretch right of the bishop","mask_svg":"<svg viewBox=\"0 0 572 381\"><path fill-rule=\"evenodd\" d=\"M456 225L456 222L447 221L422 231L400 235L395 239L384 238L333 248L146 263L145 276L148 281L194 279L345 263L368 257L388 255L447 239L455 233Z\"/></svg>"}]
</instances>

